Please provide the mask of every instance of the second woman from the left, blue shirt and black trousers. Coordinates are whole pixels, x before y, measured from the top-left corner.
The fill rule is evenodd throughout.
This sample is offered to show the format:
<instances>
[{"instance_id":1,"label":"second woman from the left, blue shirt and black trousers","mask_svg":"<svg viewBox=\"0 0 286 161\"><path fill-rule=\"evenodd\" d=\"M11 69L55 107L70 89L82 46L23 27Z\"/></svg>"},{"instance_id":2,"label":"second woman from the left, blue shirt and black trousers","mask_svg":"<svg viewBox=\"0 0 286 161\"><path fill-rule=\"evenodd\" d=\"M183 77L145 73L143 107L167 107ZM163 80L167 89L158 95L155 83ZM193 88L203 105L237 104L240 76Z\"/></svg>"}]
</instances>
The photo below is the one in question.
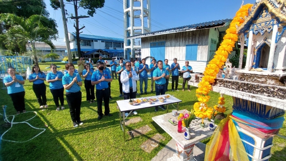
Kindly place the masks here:
<instances>
[{"instance_id":1,"label":"second woman from the left, blue shirt and black trousers","mask_svg":"<svg viewBox=\"0 0 286 161\"><path fill-rule=\"evenodd\" d=\"M33 82L33 91L37 97L40 109L47 108L46 85L44 81L46 75L41 71L38 65L32 67L32 72L29 75L29 82Z\"/></svg>"}]
</instances>

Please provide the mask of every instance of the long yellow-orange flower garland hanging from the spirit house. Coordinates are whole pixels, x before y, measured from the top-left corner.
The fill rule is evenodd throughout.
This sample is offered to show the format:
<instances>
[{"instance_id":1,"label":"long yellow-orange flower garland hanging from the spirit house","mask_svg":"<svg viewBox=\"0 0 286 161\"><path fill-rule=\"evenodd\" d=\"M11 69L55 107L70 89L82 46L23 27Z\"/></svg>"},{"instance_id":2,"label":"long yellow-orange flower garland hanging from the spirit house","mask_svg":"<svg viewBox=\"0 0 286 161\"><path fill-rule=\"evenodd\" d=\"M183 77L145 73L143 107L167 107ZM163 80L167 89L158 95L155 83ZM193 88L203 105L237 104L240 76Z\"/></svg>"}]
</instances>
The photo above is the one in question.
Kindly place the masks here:
<instances>
[{"instance_id":1,"label":"long yellow-orange flower garland hanging from the spirit house","mask_svg":"<svg viewBox=\"0 0 286 161\"><path fill-rule=\"evenodd\" d=\"M230 24L230 27L226 30L226 35L224 40L221 43L219 49L216 51L216 55L212 60L209 61L208 65L205 67L203 72L204 76L201 79L201 82L198 84L198 89L196 90L196 97L199 102L194 104L194 114L200 118L211 118L213 114L218 112L225 112L226 108L225 98L221 96L219 98L219 105L213 106L213 108L207 107L207 102L210 98L208 96L209 91L211 90L211 84L215 83L215 78L220 70L220 68L225 64L228 55L233 50L235 42L238 40L238 34L236 33L236 26L240 26L244 22L245 16L248 16L248 10L252 7L251 4L244 5L236 13L233 21ZM213 110L216 110L215 113Z\"/></svg>"}]
</instances>

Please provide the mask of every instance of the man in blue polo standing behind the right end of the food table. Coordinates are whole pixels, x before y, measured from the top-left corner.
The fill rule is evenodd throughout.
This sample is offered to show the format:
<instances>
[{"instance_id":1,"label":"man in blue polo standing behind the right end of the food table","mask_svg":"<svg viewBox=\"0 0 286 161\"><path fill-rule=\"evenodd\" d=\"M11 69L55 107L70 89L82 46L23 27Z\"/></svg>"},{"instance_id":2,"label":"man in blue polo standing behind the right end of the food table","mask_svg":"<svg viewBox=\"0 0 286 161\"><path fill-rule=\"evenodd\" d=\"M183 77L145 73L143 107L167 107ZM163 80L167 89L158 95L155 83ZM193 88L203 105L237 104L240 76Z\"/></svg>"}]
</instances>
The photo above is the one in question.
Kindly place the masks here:
<instances>
[{"instance_id":1,"label":"man in blue polo standing behind the right end of the food table","mask_svg":"<svg viewBox=\"0 0 286 161\"><path fill-rule=\"evenodd\" d=\"M163 61L158 61L158 68L153 73L153 79L155 81L156 96L165 95L166 78L170 78L169 71L163 68ZM162 110L166 110L164 106L159 106ZM155 107L155 111L158 111L158 106Z\"/></svg>"}]
</instances>

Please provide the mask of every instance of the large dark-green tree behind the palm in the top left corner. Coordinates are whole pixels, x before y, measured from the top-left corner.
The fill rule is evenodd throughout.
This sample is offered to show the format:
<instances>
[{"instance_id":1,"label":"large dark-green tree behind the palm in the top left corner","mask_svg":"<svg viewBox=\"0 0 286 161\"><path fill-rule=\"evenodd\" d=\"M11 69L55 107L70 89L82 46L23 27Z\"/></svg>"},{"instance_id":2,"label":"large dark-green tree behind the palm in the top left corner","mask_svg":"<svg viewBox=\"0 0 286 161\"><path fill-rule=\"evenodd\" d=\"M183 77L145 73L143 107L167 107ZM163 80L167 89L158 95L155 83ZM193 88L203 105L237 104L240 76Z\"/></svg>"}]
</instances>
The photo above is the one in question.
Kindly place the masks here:
<instances>
[{"instance_id":1,"label":"large dark-green tree behind the palm in the top left corner","mask_svg":"<svg viewBox=\"0 0 286 161\"><path fill-rule=\"evenodd\" d=\"M46 10L46 4L44 0L29 0L29 1L14 1L14 0L6 0L0 1L0 14L10 13L15 14L16 16L29 18L32 15L42 15L46 17L46 19L41 19L41 23L43 26L48 27L53 30L53 33L58 33L57 24L54 19L48 18L49 12ZM42 21L43 20L43 21ZM0 24L0 34L6 33L11 26L7 25L7 23ZM18 44L15 41L10 41L11 37L6 39L5 44L0 44L0 48L9 49L16 53L21 53L26 51L26 47L21 48L23 44ZM14 39L12 39L14 40Z\"/></svg>"}]
</instances>

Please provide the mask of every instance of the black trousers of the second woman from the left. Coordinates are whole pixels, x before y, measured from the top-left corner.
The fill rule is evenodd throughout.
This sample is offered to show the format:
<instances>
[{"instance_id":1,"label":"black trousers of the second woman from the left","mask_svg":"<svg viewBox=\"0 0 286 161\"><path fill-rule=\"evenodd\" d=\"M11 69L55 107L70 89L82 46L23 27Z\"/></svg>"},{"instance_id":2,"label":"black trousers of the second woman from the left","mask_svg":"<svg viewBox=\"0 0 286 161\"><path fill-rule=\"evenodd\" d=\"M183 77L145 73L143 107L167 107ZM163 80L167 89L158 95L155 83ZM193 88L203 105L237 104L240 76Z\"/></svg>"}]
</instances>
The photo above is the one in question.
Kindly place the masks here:
<instances>
[{"instance_id":1,"label":"black trousers of the second woman from the left","mask_svg":"<svg viewBox=\"0 0 286 161\"><path fill-rule=\"evenodd\" d=\"M44 83L38 85L33 84L33 91L36 95L39 105L40 106L46 105L47 104L46 85Z\"/></svg>"}]
</instances>

